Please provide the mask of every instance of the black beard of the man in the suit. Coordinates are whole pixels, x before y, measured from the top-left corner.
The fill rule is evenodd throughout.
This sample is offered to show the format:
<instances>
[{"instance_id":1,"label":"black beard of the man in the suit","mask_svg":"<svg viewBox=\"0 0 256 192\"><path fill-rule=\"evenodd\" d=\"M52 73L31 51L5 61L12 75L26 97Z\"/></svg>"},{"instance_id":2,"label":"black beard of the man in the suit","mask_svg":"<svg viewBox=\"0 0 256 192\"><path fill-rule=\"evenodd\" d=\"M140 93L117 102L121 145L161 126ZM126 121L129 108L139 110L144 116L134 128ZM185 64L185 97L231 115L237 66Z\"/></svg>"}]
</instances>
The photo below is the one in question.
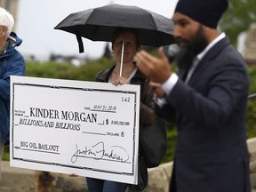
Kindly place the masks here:
<instances>
[{"instance_id":1,"label":"black beard of the man in the suit","mask_svg":"<svg viewBox=\"0 0 256 192\"><path fill-rule=\"evenodd\" d=\"M202 26L198 28L196 37L191 42L185 39L177 39L177 42L185 42L188 44L188 49L182 50L175 58L178 68L188 69L191 67L196 55L203 52L208 45L207 39L204 36L204 30Z\"/></svg>"}]
</instances>

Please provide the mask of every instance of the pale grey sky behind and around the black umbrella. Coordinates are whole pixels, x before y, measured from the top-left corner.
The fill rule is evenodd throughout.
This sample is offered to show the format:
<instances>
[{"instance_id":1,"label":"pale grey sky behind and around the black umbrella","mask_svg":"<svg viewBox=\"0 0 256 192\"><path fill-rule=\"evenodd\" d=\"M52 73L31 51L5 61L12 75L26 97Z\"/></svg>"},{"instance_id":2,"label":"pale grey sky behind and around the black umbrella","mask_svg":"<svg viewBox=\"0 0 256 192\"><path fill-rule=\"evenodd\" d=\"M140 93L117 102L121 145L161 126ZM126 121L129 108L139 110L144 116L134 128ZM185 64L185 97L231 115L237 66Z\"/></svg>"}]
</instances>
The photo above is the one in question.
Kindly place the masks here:
<instances>
[{"instance_id":1,"label":"pale grey sky behind and around the black umbrella","mask_svg":"<svg viewBox=\"0 0 256 192\"><path fill-rule=\"evenodd\" d=\"M53 29L71 12L106 4L136 5L172 18L178 0L20 0L16 20L16 32L23 40L19 50L25 56L34 54L36 59L48 59L49 54L80 55L97 58L103 53L104 42L92 42L83 38L84 53L78 53L76 36Z\"/></svg>"}]
</instances>

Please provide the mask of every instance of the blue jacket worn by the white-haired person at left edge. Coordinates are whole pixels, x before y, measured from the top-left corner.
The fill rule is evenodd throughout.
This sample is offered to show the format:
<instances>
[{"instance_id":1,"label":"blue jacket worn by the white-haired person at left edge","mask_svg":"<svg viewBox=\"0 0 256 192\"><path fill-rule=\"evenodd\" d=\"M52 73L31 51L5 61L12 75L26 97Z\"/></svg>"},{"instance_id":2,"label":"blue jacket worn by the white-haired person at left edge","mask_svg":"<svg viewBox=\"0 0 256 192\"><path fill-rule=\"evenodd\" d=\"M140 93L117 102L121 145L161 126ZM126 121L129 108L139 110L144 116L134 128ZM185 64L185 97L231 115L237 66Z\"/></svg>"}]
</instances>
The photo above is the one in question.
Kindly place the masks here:
<instances>
[{"instance_id":1,"label":"blue jacket worn by the white-haired person at left edge","mask_svg":"<svg viewBox=\"0 0 256 192\"><path fill-rule=\"evenodd\" d=\"M11 33L9 44L0 55L0 142L9 142L10 137L10 76L25 75L25 60L15 50L22 40Z\"/></svg>"}]
</instances>

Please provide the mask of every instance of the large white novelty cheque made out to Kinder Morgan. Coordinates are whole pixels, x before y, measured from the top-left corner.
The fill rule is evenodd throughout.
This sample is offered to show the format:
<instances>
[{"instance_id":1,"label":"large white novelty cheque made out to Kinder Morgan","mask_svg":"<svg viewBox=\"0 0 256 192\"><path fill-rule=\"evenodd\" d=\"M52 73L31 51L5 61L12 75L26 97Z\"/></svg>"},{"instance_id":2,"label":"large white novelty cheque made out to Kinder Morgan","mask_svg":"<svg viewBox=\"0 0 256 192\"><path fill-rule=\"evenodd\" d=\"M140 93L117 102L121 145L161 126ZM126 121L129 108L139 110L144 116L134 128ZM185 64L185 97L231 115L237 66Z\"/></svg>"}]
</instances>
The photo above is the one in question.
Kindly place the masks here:
<instances>
[{"instance_id":1,"label":"large white novelty cheque made out to Kinder Morgan","mask_svg":"<svg viewBox=\"0 0 256 192\"><path fill-rule=\"evenodd\" d=\"M11 166L137 184L140 86L11 76Z\"/></svg>"}]
</instances>

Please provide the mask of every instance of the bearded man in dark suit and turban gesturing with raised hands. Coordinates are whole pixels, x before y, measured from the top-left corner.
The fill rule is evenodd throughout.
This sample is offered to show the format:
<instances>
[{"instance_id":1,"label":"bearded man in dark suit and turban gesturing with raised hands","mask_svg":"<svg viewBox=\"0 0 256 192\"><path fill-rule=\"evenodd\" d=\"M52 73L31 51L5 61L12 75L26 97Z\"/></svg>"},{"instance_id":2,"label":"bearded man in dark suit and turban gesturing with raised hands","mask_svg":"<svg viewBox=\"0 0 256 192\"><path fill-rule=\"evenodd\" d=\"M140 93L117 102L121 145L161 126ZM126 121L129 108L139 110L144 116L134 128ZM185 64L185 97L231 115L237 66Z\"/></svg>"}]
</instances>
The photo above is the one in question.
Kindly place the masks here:
<instances>
[{"instance_id":1,"label":"bearded man in dark suit and turban gesturing with raised hands","mask_svg":"<svg viewBox=\"0 0 256 192\"><path fill-rule=\"evenodd\" d=\"M176 75L159 57L140 51L135 60L151 79L157 113L178 125L170 191L248 192L245 62L216 28L227 0L180 0L173 36L180 45Z\"/></svg>"}]
</instances>

